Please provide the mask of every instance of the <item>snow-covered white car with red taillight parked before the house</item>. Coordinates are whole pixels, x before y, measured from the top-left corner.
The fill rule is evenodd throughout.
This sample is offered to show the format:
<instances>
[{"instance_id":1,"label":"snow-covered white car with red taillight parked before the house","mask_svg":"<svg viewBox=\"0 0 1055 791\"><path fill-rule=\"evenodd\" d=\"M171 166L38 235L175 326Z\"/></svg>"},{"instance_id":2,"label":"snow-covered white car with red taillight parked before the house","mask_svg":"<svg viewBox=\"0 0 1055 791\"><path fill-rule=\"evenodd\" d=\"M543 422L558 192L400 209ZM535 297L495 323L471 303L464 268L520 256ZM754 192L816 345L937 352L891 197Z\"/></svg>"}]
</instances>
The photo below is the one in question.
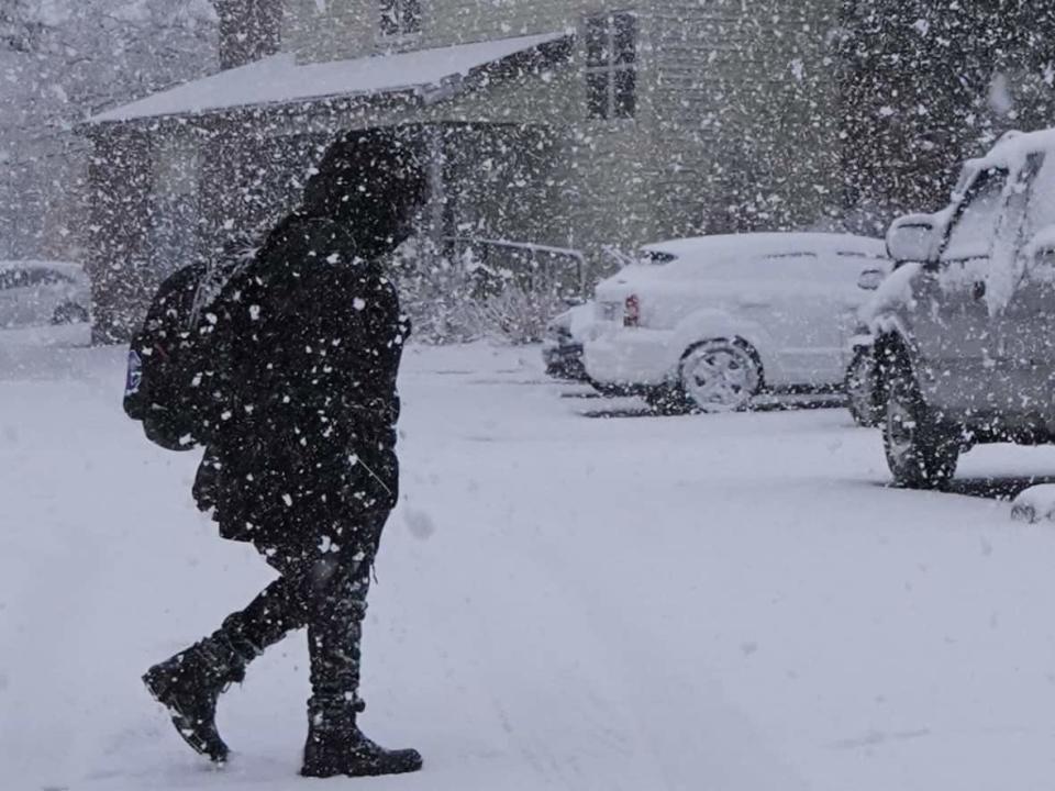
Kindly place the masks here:
<instances>
[{"instance_id":1,"label":"snow-covered white car with red taillight parked before the house","mask_svg":"<svg viewBox=\"0 0 1055 791\"><path fill-rule=\"evenodd\" d=\"M763 388L842 387L882 241L844 234L703 236L648 245L597 287L590 379L669 411L743 409Z\"/></svg>"}]
</instances>

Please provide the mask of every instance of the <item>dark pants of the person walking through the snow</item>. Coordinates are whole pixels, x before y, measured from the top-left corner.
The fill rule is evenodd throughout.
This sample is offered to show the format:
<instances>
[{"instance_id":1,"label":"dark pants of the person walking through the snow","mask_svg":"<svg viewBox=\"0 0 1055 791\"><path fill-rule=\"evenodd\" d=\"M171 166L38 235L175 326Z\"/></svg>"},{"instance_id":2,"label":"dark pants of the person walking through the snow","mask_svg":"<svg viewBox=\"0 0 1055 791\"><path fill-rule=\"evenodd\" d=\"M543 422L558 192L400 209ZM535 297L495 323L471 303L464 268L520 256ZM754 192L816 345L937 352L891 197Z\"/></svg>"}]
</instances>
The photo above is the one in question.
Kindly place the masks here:
<instances>
[{"instance_id":1,"label":"dark pants of the person walking through the snow","mask_svg":"<svg viewBox=\"0 0 1055 791\"><path fill-rule=\"evenodd\" d=\"M310 549L257 547L281 575L245 610L229 615L222 632L240 653L259 654L289 632L308 627L311 658L309 711L315 724L362 711L359 644L370 570L388 512L363 520L354 545L323 542ZM342 531L347 535L346 531ZM323 548L325 547L325 548Z\"/></svg>"}]
</instances>

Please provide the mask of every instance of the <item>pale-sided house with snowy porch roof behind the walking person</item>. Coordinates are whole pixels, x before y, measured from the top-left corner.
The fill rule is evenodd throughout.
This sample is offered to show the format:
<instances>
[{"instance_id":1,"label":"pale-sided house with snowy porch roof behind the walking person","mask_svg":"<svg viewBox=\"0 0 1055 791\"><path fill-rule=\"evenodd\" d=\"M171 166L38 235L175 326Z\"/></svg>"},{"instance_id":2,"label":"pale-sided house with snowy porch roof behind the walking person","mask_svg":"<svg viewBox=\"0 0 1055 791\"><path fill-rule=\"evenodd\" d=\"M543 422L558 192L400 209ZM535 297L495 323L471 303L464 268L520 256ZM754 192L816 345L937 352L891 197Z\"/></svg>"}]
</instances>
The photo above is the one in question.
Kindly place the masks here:
<instances>
[{"instance_id":1,"label":"pale-sided house with snowy porch roof behind the walking person","mask_svg":"<svg viewBox=\"0 0 1055 791\"><path fill-rule=\"evenodd\" d=\"M344 130L413 124L424 231L606 249L842 207L841 0L221 0L231 68L90 120L100 342Z\"/></svg>"}]
</instances>

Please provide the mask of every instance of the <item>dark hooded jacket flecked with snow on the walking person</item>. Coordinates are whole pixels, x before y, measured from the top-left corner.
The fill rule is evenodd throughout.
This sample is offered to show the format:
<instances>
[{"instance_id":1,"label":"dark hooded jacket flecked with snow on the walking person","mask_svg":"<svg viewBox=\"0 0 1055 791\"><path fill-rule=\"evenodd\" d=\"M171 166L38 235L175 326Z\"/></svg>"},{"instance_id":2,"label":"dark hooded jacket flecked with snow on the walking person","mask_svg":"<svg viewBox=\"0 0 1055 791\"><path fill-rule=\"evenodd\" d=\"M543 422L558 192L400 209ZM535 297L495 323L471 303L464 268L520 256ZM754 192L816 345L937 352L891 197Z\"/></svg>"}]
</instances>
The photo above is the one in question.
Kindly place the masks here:
<instances>
[{"instance_id":1,"label":"dark hooded jacket flecked with snow on the walking person","mask_svg":"<svg viewBox=\"0 0 1055 791\"><path fill-rule=\"evenodd\" d=\"M349 135L300 210L216 302L220 428L196 481L221 535L371 548L366 512L398 498L396 377L409 325L381 263L423 179L395 134Z\"/></svg>"}]
</instances>

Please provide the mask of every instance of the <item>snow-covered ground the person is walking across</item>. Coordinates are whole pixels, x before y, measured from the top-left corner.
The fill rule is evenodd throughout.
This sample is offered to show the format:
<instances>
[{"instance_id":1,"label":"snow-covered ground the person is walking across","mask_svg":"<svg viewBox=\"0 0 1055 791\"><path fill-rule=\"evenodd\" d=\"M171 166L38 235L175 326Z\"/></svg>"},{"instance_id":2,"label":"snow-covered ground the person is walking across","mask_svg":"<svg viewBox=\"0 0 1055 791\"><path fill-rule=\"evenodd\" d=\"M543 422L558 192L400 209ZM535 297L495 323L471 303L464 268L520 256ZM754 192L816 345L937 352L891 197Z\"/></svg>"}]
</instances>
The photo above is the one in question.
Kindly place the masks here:
<instances>
[{"instance_id":1,"label":"snow-covered ground the person is walking across","mask_svg":"<svg viewBox=\"0 0 1055 791\"><path fill-rule=\"evenodd\" d=\"M540 368L408 355L364 722L426 768L333 788L1053 787L1051 523L885 488L842 410L592 419ZM271 572L215 537L197 454L149 445L122 379L121 349L0 353L0 787L298 788L302 635L222 700L222 771L140 686ZM1028 472L1055 449L964 463Z\"/></svg>"}]
</instances>

